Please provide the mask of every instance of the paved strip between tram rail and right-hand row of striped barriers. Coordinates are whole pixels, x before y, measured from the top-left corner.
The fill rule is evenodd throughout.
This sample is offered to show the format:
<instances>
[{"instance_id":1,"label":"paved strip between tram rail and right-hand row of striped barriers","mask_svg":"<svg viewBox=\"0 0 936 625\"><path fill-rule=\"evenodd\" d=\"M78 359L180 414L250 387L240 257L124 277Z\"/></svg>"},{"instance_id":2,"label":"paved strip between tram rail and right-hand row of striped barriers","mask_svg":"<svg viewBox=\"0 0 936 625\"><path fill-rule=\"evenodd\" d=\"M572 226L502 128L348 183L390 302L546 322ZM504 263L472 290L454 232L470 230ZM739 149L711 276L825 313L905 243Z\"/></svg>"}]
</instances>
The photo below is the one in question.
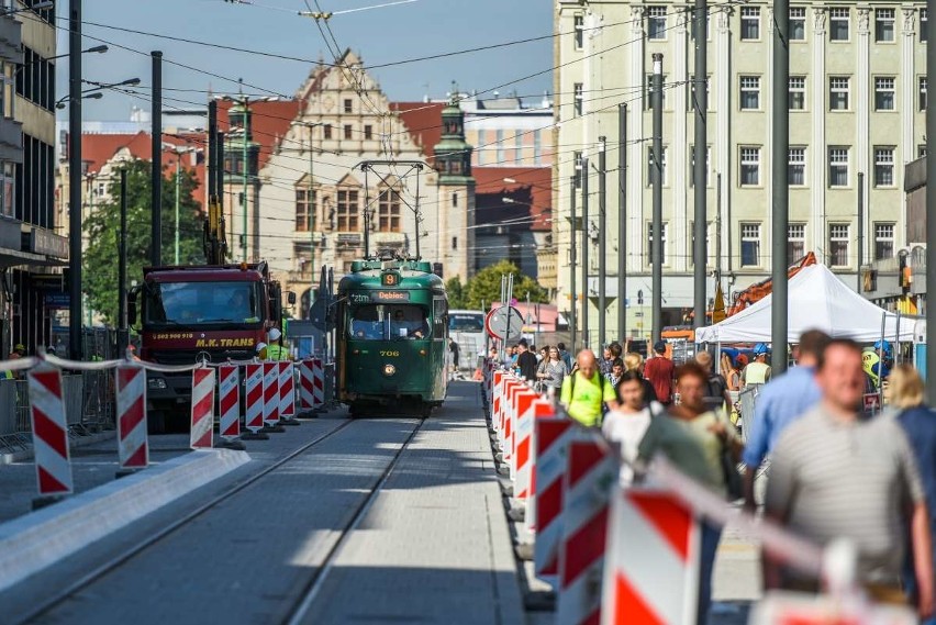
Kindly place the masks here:
<instances>
[{"instance_id":1,"label":"paved strip between tram rail and right-hand row of striped barriers","mask_svg":"<svg viewBox=\"0 0 936 625\"><path fill-rule=\"evenodd\" d=\"M477 384L449 387L304 623L525 623Z\"/></svg>"}]
</instances>

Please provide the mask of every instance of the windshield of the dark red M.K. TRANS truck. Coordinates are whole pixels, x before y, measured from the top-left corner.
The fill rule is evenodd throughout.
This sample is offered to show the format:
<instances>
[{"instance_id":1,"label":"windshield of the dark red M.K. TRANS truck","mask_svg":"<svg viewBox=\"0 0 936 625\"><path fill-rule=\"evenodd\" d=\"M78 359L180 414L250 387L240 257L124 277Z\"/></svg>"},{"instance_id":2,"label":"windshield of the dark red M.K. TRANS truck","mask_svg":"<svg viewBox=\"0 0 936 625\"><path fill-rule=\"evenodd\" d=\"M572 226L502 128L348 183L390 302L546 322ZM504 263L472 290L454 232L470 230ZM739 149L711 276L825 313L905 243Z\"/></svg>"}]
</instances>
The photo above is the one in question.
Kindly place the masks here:
<instances>
[{"instance_id":1,"label":"windshield of the dark red M.K. TRANS truck","mask_svg":"<svg viewBox=\"0 0 936 625\"><path fill-rule=\"evenodd\" d=\"M146 323L259 323L260 283L157 282L146 289Z\"/></svg>"}]
</instances>

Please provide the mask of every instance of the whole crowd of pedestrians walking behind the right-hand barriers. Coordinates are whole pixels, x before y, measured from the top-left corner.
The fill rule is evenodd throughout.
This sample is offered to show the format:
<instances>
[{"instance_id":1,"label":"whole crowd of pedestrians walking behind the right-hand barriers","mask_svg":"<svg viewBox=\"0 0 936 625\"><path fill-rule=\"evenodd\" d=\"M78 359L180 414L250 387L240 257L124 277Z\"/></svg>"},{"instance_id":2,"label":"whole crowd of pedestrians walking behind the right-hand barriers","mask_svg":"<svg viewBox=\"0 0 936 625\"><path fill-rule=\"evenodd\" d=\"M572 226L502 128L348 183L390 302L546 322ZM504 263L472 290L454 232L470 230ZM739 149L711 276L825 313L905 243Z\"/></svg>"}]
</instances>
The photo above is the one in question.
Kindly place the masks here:
<instances>
[{"instance_id":1,"label":"whole crowd of pedestrians walking behind the right-hand barriers","mask_svg":"<svg viewBox=\"0 0 936 625\"><path fill-rule=\"evenodd\" d=\"M613 343L601 357L582 349L572 366L561 344L536 355L521 342L515 364L524 378L555 393L571 418L600 427L619 446L623 483L643 479L661 455L750 512L762 499L765 516L794 535L818 546L849 539L856 579L871 599L912 604L923 623L936 625L936 411L923 403L915 369L894 367L890 346L872 348L879 358L869 367L857 343L809 331L793 350L795 365L777 376L765 345L749 356L720 354L720 371L707 351L677 366L664 342L647 360ZM877 379L869 382L871 375ZM884 390L888 409L868 415L865 399L874 384ZM753 417L743 422L745 444L729 418L732 391L750 387L758 398ZM759 498L756 478L765 466ZM720 537L721 527L702 520L700 625L707 620ZM821 590L818 580L787 567L782 555L765 553L762 561L766 588Z\"/></svg>"}]
</instances>

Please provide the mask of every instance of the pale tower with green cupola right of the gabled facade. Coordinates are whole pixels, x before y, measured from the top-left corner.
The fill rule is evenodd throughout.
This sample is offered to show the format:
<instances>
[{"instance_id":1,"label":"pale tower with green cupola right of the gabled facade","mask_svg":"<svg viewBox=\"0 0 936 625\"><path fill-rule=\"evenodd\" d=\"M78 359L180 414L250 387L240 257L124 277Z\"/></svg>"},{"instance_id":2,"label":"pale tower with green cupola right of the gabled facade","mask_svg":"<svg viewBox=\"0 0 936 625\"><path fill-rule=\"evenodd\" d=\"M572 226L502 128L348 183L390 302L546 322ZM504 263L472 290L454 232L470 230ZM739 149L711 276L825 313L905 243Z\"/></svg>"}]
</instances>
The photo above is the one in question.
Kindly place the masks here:
<instances>
[{"instance_id":1,"label":"pale tower with green cupola right of the gabled facade","mask_svg":"<svg viewBox=\"0 0 936 625\"><path fill-rule=\"evenodd\" d=\"M458 276L465 283L475 274L475 179L472 148L465 141L465 113L458 99L453 83L448 105L442 110L442 139L433 150L438 171L436 259L446 280Z\"/></svg>"}]
</instances>

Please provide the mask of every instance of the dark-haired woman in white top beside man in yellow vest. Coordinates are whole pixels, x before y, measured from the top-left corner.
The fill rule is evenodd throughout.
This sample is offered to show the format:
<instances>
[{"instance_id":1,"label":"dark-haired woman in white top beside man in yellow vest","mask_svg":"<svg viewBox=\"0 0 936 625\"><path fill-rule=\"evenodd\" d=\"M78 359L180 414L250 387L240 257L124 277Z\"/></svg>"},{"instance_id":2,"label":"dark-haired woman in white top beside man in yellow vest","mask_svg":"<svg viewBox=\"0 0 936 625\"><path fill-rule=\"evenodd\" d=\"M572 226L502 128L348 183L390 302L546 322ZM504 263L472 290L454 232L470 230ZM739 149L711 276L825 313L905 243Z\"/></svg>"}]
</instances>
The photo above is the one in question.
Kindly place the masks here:
<instances>
[{"instance_id":1,"label":"dark-haired woman in white top beside man in yellow vest","mask_svg":"<svg viewBox=\"0 0 936 625\"><path fill-rule=\"evenodd\" d=\"M621 446L621 484L634 481L633 465L637 460L637 447L644 439L650 420L664 412L657 402L644 402L644 381L639 371L624 371L617 382L617 410L604 415L601 429L604 436Z\"/></svg>"}]
</instances>

